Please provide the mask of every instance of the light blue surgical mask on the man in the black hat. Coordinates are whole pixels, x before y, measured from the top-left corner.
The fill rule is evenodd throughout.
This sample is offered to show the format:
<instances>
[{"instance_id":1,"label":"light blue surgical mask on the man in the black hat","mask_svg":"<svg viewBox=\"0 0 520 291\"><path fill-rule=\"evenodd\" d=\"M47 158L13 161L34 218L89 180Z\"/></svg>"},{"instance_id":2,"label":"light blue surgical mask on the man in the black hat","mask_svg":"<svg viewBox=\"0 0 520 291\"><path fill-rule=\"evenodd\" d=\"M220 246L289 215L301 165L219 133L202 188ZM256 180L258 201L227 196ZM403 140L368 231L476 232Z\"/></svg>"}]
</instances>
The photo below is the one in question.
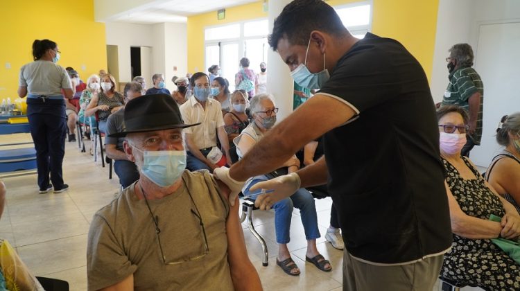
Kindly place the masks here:
<instances>
[{"instance_id":1,"label":"light blue surgical mask on the man in the black hat","mask_svg":"<svg viewBox=\"0 0 520 291\"><path fill-rule=\"evenodd\" d=\"M186 168L185 150L139 150L143 153L141 173L157 186L173 185L182 176Z\"/></svg>"}]
</instances>

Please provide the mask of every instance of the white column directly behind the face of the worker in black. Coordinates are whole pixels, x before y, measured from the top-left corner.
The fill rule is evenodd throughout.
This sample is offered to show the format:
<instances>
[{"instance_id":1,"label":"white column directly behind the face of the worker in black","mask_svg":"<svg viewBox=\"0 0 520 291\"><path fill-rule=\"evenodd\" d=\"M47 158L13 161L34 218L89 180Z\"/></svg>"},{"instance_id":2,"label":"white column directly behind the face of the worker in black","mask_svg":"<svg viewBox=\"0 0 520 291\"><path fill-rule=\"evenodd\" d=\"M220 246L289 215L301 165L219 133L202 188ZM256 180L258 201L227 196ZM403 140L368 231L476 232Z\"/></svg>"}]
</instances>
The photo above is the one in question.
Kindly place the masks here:
<instances>
[{"instance_id":1,"label":"white column directly behind the face of the worker in black","mask_svg":"<svg viewBox=\"0 0 520 291\"><path fill-rule=\"evenodd\" d=\"M272 33L272 26L275 18L280 14L284 7L292 0L269 1L269 32ZM293 112L293 78L287 65L281 60L280 55L269 48L267 54L268 74L267 87L269 93L275 96L276 106L279 108L277 120L281 121Z\"/></svg>"}]
</instances>

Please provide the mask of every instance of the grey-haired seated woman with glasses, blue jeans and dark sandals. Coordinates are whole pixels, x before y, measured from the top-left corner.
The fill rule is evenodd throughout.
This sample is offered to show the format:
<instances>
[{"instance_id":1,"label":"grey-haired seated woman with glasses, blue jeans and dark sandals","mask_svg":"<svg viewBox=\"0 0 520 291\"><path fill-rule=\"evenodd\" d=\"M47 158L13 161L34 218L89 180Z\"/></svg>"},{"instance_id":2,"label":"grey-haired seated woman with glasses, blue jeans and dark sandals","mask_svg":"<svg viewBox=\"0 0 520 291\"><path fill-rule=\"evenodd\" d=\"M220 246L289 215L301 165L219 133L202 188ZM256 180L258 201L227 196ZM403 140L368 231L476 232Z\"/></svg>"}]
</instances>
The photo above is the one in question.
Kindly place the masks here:
<instances>
[{"instance_id":1,"label":"grey-haired seated woman with glasses, blue jeans and dark sandals","mask_svg":"<svg viewBox=\"0 0 520 291\"><path fill-rule=\"evenodd\" d=\"M250 114L252 121L245 130L234 139L236 145L236 153L241 159L251 148L257 143L270 128L276 123L276 114L278 108L268 94L259 94L251 98ZM296 156L291 157L283 165L286 168L285 173L291 173L300 167L300 160ZM284 169L279 169L283 172ZM245 182L242 193L245 196L250 196L253 200L256 198L255 193L250 193L249 189L258 182L272 179L279 175L278 170L266 175L259 175L252 177ZM291 197L280 200L275 203L272 208L275 209L275 230L276 241L278 243L278 257L276 259L277 265L281 267L286 274L297 276L300 274L300 269L297 267L289 250L287 244L289 243L289 229L291 227L291 218L293 215L293 207L300 209L303 227L305 230L305 237L307 240L306 261L313 263L318 269L329 272L332 270L331 264L327 261L316 249L316 238L320 238L320 231L318 229L318 218L316 215L316 208L314 198L305 188L300 188Z\"/></svg>"}]
</instances>

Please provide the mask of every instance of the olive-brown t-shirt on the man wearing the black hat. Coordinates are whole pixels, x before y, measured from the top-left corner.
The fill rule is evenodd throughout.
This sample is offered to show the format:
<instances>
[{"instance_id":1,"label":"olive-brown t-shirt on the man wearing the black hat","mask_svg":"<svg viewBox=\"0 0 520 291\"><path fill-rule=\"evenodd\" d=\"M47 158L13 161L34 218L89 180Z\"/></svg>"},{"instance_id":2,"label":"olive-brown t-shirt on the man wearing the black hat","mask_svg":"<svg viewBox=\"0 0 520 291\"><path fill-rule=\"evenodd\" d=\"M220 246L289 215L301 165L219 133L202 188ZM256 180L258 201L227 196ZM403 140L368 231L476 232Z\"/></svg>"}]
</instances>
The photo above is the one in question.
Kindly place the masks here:
<instances>
[{"instance_id":1,"label":"olive-brown t-shirt on the man wearing the black hat","mask_svg":"<svg viewBox=\"0 0 520 291\"><path fill-rule=\"evenodd\" d=\"M182 179L177 191L148 203L161 230L166 261L184 262L164 264L150 211L135 195L139 186L132 184L92 218L87 243L88 290L114 285L130 274L134 290L233 290L227 262L227 200L207 170L184 170ZM200 213L200 220L195 213ZM205 254L204 231L208 254L188 260Z\"/></svg>"}]
</instances>

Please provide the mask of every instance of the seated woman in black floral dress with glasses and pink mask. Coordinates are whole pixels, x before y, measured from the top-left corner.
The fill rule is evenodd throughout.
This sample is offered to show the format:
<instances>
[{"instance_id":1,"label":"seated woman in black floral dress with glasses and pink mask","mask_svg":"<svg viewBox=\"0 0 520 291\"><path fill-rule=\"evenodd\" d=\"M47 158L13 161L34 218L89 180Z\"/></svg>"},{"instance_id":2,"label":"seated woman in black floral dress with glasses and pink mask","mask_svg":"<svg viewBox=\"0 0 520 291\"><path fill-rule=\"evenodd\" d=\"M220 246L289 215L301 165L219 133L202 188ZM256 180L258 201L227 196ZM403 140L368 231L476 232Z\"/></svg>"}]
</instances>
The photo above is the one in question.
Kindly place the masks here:
<instances>
[{"instance_id":1,"label":"seated woman in black floral dress with glasses and pink mask","mask_svg":"<svg viewBox=\"0 0 520 291\"><path fill-rule=\"evenodd\" d=\"M437 120L453 231L453 246L444 254L441 276L486 290L519 290L520 265L490 239L517 239L520 216L461 156L469 129L467 112L453 105L440 107ZM491 214L501 217L501 222L489 220Z\"/></svg>"}]
</instances>

